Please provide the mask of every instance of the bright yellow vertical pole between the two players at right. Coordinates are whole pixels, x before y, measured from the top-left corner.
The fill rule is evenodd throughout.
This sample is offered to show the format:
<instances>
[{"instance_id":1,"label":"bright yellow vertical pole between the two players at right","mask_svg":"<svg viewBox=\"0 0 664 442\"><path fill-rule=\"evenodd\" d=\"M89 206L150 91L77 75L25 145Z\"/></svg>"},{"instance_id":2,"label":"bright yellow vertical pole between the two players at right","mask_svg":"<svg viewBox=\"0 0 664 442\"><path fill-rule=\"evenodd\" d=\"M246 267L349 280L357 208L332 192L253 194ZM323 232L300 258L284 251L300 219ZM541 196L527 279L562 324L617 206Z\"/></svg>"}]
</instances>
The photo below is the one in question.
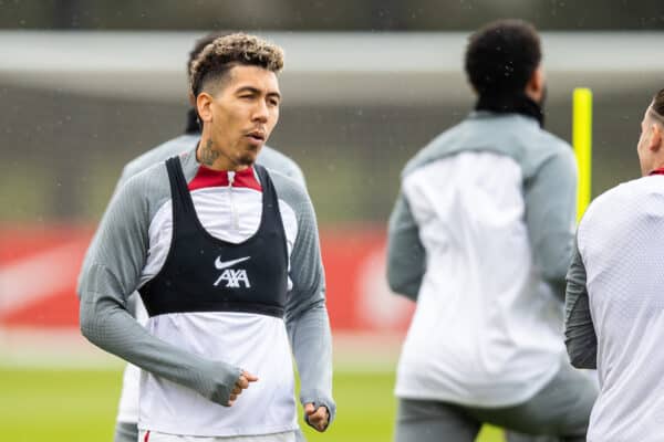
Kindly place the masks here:
<instances>
[{"instance_id":1,"label":"bright yellow vertical pole between the two players at right","mask_svg":"<svg viewBox=\"0 0 664 442\"><path fill-rule=\"evenodd\" d=\"M577 222L591 198L592 182L592 91L577 87L572 96L572 145L579 168Z\"/></svg>"}]
</instances>

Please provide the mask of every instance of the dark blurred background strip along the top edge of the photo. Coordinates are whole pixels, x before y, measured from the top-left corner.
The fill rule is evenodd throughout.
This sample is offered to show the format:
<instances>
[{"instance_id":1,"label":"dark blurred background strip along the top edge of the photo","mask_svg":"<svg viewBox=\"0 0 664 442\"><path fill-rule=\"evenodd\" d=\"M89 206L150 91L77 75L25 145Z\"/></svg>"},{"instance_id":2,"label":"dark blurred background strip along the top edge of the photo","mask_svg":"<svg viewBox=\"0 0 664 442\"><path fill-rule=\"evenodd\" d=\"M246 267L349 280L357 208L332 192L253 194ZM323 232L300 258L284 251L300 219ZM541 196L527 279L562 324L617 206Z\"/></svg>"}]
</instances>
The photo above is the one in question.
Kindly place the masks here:
<instances>
[{"instance_id":1,"label":"dark blurred background strip along the top edge of the photo","mask_svg":"<svg viewBox=\"0 0 664 442\"><path fill-rule=\"evenodd\" d=\"M662 0L0 0L0 29L464 31L516 17L540 30L662 30Z\"/></svg>"}]
</instances>

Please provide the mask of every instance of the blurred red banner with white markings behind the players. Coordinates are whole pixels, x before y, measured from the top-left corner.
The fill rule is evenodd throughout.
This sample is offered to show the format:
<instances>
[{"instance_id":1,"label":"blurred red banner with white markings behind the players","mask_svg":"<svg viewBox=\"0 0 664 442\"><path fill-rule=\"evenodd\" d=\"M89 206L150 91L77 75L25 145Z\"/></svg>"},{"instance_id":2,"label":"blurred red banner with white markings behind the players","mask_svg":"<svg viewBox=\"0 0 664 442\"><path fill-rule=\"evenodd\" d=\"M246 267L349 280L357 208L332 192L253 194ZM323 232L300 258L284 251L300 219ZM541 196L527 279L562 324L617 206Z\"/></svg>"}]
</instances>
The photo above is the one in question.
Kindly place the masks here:
<instances>
[{"instance_id":1,"label":"blurred red banner with white markings behind the players","mask_svg":"<svg viewBox=\"0 0 664 442\"><path fill-rule=\"evenodd\" d=\"M76 277L92 230L0 229L0 327L74 328ZM385 232L326 230L321 246L334 332L403 332L413 304L385 282Z\"/></svg>"}]
</instances>

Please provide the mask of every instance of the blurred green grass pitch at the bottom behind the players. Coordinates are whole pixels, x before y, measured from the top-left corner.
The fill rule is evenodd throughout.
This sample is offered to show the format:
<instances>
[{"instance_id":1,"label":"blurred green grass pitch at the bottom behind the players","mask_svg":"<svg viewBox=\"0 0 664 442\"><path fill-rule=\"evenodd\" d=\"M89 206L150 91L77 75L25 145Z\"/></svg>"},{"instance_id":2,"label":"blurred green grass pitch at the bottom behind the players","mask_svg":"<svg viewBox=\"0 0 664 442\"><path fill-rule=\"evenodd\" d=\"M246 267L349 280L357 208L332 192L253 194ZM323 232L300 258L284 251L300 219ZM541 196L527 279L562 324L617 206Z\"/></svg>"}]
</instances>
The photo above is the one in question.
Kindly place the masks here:
<instances>
[{"instance_id":1,"label":"blurred green grass pitch at the bottom behind the players","mask_svg":"<svg viewBox=\"0 0 664 442\"><path fill-rule=\"evenodd\" d=\"M0 434L12 442L112 441L120 370L0 368ZM392 372L338 372L339 413L326 433L307 428L311 442L392 440L395 400ZM303 425L305 427L305 425ZM501 442L485 428L478 441Z\"/></svg>"}]
</instances>

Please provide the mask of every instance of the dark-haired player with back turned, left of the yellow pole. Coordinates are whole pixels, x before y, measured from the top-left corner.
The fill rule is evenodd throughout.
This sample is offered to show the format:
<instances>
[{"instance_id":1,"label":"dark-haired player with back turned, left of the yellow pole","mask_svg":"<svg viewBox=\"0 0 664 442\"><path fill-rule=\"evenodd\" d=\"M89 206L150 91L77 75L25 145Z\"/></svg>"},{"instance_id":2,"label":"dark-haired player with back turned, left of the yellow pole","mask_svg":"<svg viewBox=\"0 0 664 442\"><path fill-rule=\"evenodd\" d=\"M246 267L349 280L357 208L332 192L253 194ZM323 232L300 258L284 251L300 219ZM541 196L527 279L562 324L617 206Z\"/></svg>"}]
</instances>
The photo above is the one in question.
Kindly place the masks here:
<instances>
[{"instance_id":1,"label":"dark-haired player with back turned, left of the yellow pole","mask_svg":"<svg viewBox=\"0 0 664 442\"><path fill-rule=\"evenodd\" d=\"M596 388L562 339L577 172L543 130L532 25L474 33L475 112L405 167L390 219L391 288L417 302L396 380L397 442L474 441L483 423L585 440Z\"/></svg>"}]
</instances>

